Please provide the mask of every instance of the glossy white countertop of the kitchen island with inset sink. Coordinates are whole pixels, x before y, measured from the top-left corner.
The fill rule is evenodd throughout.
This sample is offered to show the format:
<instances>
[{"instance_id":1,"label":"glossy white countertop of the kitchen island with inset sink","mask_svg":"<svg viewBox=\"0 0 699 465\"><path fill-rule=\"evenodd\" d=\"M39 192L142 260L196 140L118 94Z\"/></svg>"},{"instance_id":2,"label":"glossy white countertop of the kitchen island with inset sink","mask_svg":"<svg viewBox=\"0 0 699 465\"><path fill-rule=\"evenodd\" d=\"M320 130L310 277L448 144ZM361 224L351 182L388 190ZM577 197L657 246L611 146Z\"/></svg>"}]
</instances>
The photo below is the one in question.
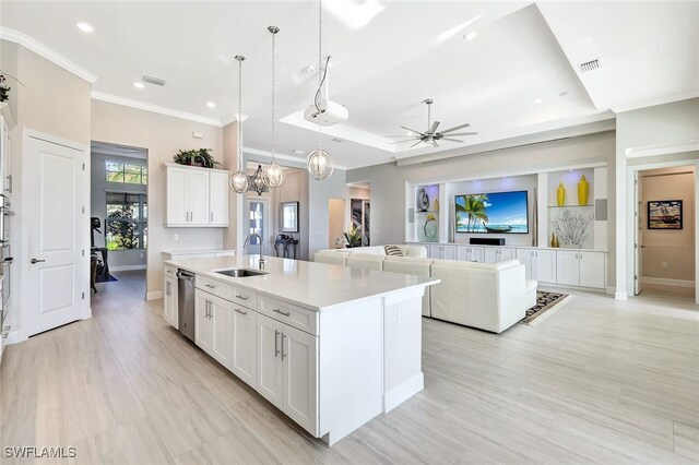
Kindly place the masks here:
<instances>
[{"instance_id":1,"label":"glossy white countertop of the kitchen island with inset sink","mask_svg":"<svg viewBox=\"0 0 699 465\"><path fill-rule=\"evenodd\" d=\"M216 270L258 269L258 255L216 259L174 259L165 264L276 297L311 310L327 310L347 302L381 297L408 288L431 286L439 279L413 275L351 269L324 263L264 257L262 276L229 277Z\"/></svg>"}]
</instances>

